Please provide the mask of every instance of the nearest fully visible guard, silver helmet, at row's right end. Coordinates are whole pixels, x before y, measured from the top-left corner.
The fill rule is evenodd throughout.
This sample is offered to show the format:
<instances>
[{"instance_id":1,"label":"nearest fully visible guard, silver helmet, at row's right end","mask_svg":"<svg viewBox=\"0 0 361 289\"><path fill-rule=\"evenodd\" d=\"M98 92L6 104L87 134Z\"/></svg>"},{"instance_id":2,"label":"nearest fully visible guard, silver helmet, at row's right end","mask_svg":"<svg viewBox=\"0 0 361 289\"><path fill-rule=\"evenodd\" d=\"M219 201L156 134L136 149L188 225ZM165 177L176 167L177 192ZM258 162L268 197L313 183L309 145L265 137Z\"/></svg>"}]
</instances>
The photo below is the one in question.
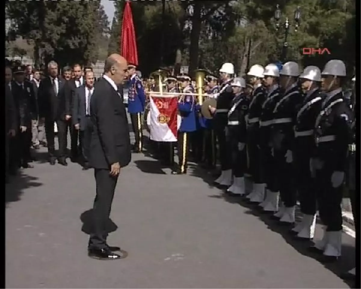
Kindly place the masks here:
<instances>
[{"instance_id":1,"label":"nearest fully visible guard, silver helmet, at row's right end","mask_svg":"<svg viewBox=\"0 0 361 289\"><path fill-rule=\"evenodd\" d=\"M322 71L322 90L326 97L316 118L316 154L310 168L316 181L318 212L325 225L322 240L310 247L321 253L321 262L332 262L341 255L343 181L351 143L353 116L344 99L342 85L346 76L341 60L330 60Z\"/></svg>"}]
</instances>

